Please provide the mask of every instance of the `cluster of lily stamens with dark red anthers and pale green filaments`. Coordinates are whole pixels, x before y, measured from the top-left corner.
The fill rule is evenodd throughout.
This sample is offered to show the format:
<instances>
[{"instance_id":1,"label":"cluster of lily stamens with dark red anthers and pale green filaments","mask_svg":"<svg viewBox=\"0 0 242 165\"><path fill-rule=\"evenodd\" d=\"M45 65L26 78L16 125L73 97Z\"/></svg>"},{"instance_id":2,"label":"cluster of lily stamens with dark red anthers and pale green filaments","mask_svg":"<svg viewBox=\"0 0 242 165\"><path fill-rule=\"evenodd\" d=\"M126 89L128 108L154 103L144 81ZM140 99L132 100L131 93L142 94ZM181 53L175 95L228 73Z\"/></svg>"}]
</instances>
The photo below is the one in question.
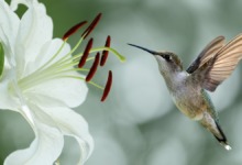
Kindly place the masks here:
<instances>
[{"instance_id":1,"label":"cluster of lily stamens with dark red anthers and pale green filaments","mask_svg":"<svg viewBox=\"0 0 242 165\"><path fill-rule=\"evenodd\" d=\"M76 50L80 46L82 41L97 26L100 18L101 18L101 14L98 14L95 18L95 20L91 22L91 24L85 30L80 40L77 42L77 44L74 46L73 50L70 50L64 56L62 56L61 58L55 61L57 58L57 56L62 54L62 51L64 50L65 45L67 44L66 41L69 38L69 36L75 34L81 26L84 26L87 23L87 21L82 21L82 22L74 25L73 28L70 28L64 34L64 36L63 36L64 42L61 45L59 50L56 51L54 56L52 58L50 58L50 61L47 61L45 64L43 64L43 66L41 66L37 70L35 70L34 73L32 73L29 76L19 80L19 86L21 87L21 89L24 91L29 88L32 88L33 86L36 86L38 84L45 82L51 79L75 78L75 79L85 80L88 84L94 85L94 86L102 89L103 94L102 94L101 101L105 101L108 94L110 92L110 89L111 89L112 73L109 72L107 85L105 88L94 81L90 81L90 80L94 78L94 76L98 69L99 63L101 66L105 65L109 52L112 52L114 55L117 55L121 62L124 61L124 57L122 55L120 55L116 50L110 47L111 37L110 36L107 37L105 47L97 47L97 48L92 48L94 38L90 38L88 41L87 46L85 47L84 52L73 55L73 53L76 52ZM101 62L100 62L100 53L99 52L102 52ZM96 57L88 57L89 54L92 54L92 53L97 53ZM94 61L90 69L82 68L85 66L86 62L90 62L90 61ZM68 74L72 74L72 72L80 72L80 73L84 73L85 75L87 74L87 76L85 78L81 75L79 77L68 75Z\"/></svg>"}]
</instances>

